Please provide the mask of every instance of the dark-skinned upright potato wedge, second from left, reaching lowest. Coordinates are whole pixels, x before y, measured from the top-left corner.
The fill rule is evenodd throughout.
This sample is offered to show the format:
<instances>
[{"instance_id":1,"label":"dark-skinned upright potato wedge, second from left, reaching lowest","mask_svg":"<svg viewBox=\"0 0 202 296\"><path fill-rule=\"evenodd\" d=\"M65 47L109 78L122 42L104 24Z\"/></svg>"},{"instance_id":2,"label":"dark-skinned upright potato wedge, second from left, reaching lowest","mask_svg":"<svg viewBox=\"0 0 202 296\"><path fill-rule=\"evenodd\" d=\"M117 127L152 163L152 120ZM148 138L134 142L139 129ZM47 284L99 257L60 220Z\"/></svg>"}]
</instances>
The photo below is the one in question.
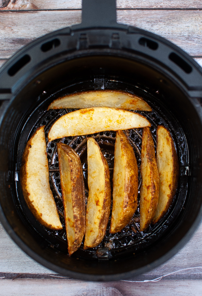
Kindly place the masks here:
<instances>
[{"instance_id":1,"label":"dark-skinned upright potato wedge, second from left, reaching lowest","mask_svg":"<svg viewBox=\"0 0 202 296\"><path fill-rule=\"evenodd\" d=\"M57 144L68 252L81 245L86 230L86 206L81 161L68 145Z\"/></svg>"}]
</instances>

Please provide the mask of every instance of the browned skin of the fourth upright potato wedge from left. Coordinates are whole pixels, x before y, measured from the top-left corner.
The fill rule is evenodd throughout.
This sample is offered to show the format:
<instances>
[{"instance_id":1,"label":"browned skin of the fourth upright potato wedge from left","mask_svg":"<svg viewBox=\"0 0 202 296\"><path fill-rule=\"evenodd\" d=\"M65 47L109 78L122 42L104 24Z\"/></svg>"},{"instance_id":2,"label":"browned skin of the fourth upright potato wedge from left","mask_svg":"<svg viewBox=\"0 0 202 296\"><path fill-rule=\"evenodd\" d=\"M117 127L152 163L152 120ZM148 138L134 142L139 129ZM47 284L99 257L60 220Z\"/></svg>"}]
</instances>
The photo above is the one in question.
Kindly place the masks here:
<instances>
[{"instance_id":1,"label":"browned skin of the fourth upright potato wedge from left","mask_svg":"<svg viewBox=\"0 0 202 296\"><path fill-rule=\"evenodd\" d=\"M117 149L117 136L120 137L121 141L121 156L125 158L125 180L124 180L124 192L123 194L123 204L121 209L115 208L115 203L113 202L112 208L112 216L111 216L111 226L110 233L116 233L121 231L131 220L137 209L137 194L138 194L138 167L137 160L134 154L134 150L129 142L129 139L124 134L123 131L116 132L116 142L115 142L115 151ZM115 153L114 153L115 155ZM114 158L114 168L120 162L120 157ZM115 173L115 170L114 170ZM113 177L113 182L114 182ZM116 186L115 182L113 183L113 201L115 200L114 196L114 186ZM120 192L121 194L121 192ZM118 206L118 205L117 205ZM115 211L120 212L119 220L114 221L114 213ZM114 226L114 224L116 226ZM112 229L112 227L114 229Z\"/></svg>"}]
</instances>

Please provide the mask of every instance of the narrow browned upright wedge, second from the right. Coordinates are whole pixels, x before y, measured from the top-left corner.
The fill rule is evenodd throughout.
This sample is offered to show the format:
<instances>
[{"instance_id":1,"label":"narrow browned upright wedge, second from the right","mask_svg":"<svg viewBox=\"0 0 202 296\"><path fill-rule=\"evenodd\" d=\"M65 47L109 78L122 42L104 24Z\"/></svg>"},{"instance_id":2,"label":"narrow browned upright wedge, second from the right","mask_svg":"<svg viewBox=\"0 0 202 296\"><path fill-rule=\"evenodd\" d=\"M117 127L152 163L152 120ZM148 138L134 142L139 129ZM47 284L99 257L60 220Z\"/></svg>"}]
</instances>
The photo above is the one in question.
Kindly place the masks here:
<instances>
[{"instance_id":1,"label":"narrow browned upright wedge, second from the right","mask_svg":"<svg viewBox=\"0 0 202 296\"><path fill-rule=\"evenodd\" d=\"M154 142L149 128L142 133L140 190L140 231L152 222L159 197L159 173L155 158Z\"/></svg>"}]
</instances>

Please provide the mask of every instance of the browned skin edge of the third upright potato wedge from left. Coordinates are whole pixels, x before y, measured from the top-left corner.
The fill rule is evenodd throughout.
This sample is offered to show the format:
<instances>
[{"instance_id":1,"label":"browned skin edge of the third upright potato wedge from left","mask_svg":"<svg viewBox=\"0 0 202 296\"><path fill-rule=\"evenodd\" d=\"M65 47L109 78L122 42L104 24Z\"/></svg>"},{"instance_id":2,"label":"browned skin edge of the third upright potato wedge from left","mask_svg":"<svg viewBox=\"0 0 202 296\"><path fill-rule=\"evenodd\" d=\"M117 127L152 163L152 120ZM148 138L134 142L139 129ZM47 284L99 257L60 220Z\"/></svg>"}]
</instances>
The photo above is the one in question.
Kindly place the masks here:
<instances>
[{"instance_id":1,"label":"browned skin edge of the third upright potato wedge from left","mask_svg":"<svg viewBox=\"0 0 202 296\"><path fill-rule=\"evenodd\" d=\"M88 140L88 138L87 138L87 140ZM86 241L84 242L84 247L83 247L84 250L86 250L88 248L96 247L103 240L103 238L105 236L105 233L106 233L107 224L108 224L108 221L109 221L109 214L110 214L110 207L111 207L111 185L110 185L109 166L108 166L108 163L106 161L106 158L104 157L104 155L101 152L101 149L100 149L98 143L96 141L95 141L95 143L96 143L96 145L98 146L98 148L100 150L101 159L102 159L102 162L104 164L104 171L105 171L105 187L104 187L104 191L105 191L105 196L104 196L104 201L103 201L102 210L101 210L101 218L100 218L99 226L98 226L99 234L98 234L97 238L95 239L95 241L92 243L91 246L87 246L85 244ZM89 188L89 192L90 192L90 188ZM86 209L86 225L87 225L87 217L88 217L88 204L87 204L87 209Z\"/></svg>"}]
</instances>

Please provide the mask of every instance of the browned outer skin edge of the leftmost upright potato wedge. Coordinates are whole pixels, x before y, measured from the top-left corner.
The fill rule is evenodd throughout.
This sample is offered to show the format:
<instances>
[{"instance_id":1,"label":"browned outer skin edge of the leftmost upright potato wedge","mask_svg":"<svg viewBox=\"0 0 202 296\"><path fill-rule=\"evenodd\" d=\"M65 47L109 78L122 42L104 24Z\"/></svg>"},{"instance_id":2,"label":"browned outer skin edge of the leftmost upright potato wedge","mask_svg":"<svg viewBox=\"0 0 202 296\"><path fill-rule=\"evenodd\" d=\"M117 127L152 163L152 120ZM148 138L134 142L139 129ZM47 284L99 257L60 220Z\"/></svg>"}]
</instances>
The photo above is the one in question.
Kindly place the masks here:
<instances>
[{"instance_id":1,"label":"browned outer skin edge of the leftmost upright potato wedge","mask_svg":"<svg viewBox=\"0 0 202 296\"><path fill-rule=\"evenodd\" d=\"M21 169L20 169L20 183L21 183L21 187L22 187L22 192L23 192L23 196L24 199L27 203L27 206L29 208L29 210L32 212L32 214L35 216L35 218L37 219L37 221L39 221L43 226L49 228L49 229L53 229L53 230L60 230L63 229L63 227L57 228L55 229L55 227L53 227L52 225L46 223L41 216L39 215L39 213L37 212L36 208L34 207L34 205L32 204L32 202L29 200L29 195L30 193L27 191L27 187L26 187L26 176L27 176L27 169L26 169L26 165L27 165L27 159L28 159L28 155L29 155L29 149L28 147L31 146L31 142L32 139L34 138L35 134L37 131L39 131L41 128L44 128L45 126L40 126L39 128L37 128L37 130L35 131L35 133L31 136L31 138L29 139L29 141L26 144L26 147L24 149L23 155L22 155L22 165L21 165ZM46 153L47 155L47 153ZM54 201L55 202L55 201Z\"/></svg>"}]
</instances>

